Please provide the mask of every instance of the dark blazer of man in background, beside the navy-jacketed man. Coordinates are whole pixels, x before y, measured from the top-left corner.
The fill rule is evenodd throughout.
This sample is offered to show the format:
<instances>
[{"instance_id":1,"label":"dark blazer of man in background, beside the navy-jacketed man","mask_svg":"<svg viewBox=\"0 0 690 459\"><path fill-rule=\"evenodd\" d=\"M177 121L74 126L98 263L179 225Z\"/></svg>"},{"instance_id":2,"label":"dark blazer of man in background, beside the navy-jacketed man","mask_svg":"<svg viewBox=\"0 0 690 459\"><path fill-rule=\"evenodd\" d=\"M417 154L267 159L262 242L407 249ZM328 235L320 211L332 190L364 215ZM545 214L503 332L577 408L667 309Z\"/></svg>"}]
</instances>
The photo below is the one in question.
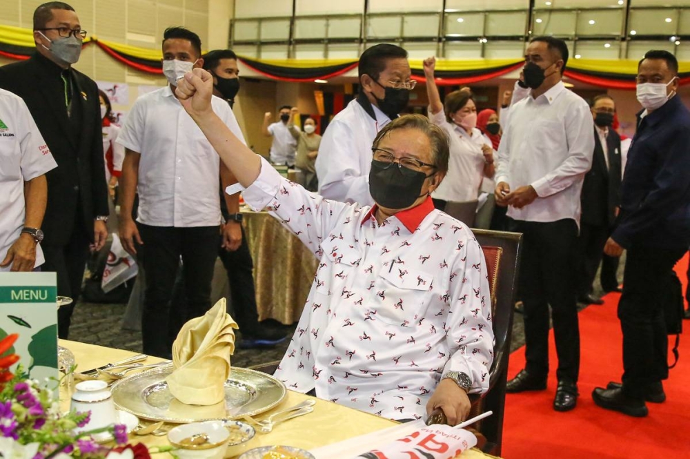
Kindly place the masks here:
<instances>
[{"instance_id":1,"label":"dark blazer of man in background, beside the navy-jacketed man","mask_svg":"<svg viewBox=\"0 0 690 459\"><path fill-rule=\"evenodd\" d=\"M597 128L594 128L592 168L582 184L582 216L580 222L590 225L613 225L615 209L620 205L620 136L609 128L607 135L609 167Z\"/></svg>"}]
</instances>

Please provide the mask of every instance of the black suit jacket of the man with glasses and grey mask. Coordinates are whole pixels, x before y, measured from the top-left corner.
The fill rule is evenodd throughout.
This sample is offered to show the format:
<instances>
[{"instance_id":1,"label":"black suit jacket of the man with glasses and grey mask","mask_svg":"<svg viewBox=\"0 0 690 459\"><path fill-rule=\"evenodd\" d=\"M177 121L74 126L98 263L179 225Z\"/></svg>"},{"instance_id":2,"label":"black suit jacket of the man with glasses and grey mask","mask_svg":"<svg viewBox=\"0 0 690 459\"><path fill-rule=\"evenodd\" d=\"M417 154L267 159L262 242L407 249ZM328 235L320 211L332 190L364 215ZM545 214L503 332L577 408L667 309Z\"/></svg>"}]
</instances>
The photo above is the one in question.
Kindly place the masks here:
<instances>
[{"instance_id":1,"label":"black suit jacket of the man with glasses and grey mask","mask_svg":"<svg viewBox=\"0 0 690 459\"><path fill-rule=\"evenodd\" d=\"M77 215L81 216L79 222L91 241L93 219L108 215L98 88L83 73L70 70L70 119L61 72L59 66L38 52L26 61L0 67L0 88L14 92L26 102L57 162L58 167L46 174L48 206L42 225L43 244L53 246L66 245L72 233L81 229L75 226Z\"/></svg>"}]
</instances>

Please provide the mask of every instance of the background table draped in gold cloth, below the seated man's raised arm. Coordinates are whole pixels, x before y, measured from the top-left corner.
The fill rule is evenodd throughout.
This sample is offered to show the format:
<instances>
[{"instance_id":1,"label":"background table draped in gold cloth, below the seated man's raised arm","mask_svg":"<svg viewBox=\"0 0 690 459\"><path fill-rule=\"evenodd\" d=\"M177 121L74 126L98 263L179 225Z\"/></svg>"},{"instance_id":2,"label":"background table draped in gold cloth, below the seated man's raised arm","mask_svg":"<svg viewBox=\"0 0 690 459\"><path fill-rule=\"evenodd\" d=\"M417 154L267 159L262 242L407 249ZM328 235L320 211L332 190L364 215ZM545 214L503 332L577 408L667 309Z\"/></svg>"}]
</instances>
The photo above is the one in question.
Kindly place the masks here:
<instances>
[{"instance_id":1,"label":"background table draped in gold cloth, below the seated man's raised arm","mask_svg":"<svg viewBox=\"0 0 690 459\"><path fill-rule=\"evenodd\" d=\"M302 314L319 260L268 212L244 211L242 215L254 260L259 320L293 324Z\"/></svg>"}]
</instances>

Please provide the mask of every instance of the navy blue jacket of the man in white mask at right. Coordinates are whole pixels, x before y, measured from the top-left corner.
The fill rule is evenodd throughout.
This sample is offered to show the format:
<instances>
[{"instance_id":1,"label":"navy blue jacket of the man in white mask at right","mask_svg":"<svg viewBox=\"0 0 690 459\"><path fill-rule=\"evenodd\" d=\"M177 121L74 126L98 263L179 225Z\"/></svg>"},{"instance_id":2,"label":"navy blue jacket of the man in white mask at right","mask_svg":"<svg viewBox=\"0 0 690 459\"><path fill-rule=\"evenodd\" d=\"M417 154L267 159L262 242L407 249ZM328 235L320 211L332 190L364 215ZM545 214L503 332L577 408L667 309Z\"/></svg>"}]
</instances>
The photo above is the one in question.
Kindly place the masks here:
<instances>
[{"instance_id":1,"label":"navy blue jacket of the man in white mask at right","mask_svg":"<svg viewBox=\"0 0 690 459\"><path fill-rule=\"evenodd\" d=\"M628 150L617 227L611 237L631 244L690 246L690 110L671 97L644 118Z\"/></svg>"}]
</instances>

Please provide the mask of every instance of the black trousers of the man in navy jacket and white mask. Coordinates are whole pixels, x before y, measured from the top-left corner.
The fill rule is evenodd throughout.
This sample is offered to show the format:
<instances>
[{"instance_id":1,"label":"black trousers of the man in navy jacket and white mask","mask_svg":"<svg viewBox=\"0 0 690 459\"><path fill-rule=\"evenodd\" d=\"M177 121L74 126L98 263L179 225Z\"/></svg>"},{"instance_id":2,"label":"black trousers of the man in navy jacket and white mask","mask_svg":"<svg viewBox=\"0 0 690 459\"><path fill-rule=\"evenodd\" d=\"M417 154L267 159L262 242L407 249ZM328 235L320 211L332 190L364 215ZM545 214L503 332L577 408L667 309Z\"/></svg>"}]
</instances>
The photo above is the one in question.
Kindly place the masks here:
<instances>
[{"instance_id":1,"label":"black trousers of the man in navy jacket and white mask","mask_svg":"<svg viewBox=\"0 0 690 459\"><path fill-rule=\"evenodd\" d=\"M618 319L623 332L623 391L644 398L649 385L669 377L668 337L661 289L687 248L631 246L623 274Z\"/></svg>"}]
</instances>

